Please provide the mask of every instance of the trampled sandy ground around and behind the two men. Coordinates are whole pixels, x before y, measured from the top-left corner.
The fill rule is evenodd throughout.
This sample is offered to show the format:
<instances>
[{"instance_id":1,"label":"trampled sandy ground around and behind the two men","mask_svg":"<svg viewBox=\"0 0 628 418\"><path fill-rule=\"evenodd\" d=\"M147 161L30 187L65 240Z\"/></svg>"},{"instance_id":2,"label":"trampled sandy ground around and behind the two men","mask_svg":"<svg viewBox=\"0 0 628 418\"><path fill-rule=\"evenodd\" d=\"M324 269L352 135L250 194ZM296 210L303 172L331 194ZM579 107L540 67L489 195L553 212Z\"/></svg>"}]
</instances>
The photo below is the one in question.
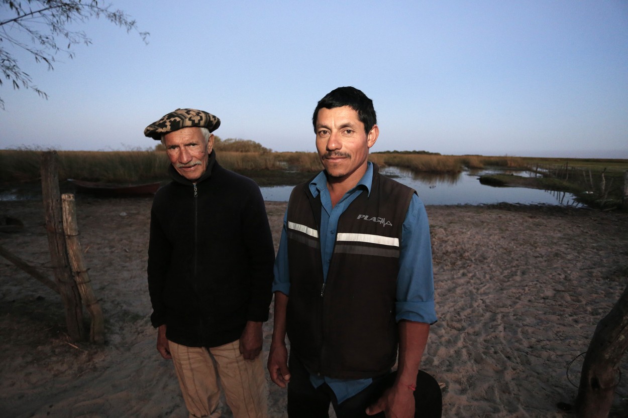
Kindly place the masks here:
<instances>
[{"instance_id":1,"label":"trampled sandy ground around and behind the two men","mask_svg":"<svg viewBox=\"0 0 628 418\"><path fill-rule=\"evenodd\" d=\"M77 196L104 346L70 343L60 297L0 257L1 417L187 416L148 319L150 205ZM267 203L276 245L285 206ZM0 245L52 277L41 203L0 201L0 215L25 224L0 233ZM578 355L628 282L628 215L495 205L428 206L428 216L439 321L423 369L447 385L443 416L566 416L556 404L577 394ZM626 363L615 417L628 411ZM272 383L269 406L271 417L286 416L285 392Z\"/></svg>"}]
</instances>

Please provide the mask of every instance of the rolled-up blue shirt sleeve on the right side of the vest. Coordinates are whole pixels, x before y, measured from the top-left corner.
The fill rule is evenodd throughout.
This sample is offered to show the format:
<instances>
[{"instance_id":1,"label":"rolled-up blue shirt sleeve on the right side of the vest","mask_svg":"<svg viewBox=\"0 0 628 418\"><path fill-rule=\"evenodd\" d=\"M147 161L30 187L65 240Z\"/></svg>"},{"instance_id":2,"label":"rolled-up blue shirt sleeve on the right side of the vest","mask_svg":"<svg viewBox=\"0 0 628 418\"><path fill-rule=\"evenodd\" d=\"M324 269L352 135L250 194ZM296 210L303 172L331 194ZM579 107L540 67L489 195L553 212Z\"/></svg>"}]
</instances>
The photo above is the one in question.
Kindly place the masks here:
<instances>
[{"instance_id":1,"label":"rolled-up blue shirt sleeve on the right side of the vest","mask_svg":"<svg viewBox=\"0 0 628 418\"><path fill-rule=\"evenodd\" d=\"M403 223L396 320L433 324L436 322L430 223L425 205L415 194Z\"/></svg>"}]
</instances>

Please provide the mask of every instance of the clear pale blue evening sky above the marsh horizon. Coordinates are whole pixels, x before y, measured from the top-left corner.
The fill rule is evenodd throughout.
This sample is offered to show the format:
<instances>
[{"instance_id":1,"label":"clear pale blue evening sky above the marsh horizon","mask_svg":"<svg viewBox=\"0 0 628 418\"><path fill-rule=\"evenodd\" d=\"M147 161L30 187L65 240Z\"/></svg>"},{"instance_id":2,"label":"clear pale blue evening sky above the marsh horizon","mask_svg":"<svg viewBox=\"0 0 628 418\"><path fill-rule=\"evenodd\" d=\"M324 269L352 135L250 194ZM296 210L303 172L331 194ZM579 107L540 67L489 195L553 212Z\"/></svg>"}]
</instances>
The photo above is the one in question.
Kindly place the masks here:
<instances>
[{"instance_id":1,"label":"clear pale blue evening sky above the marsh horizon","mask_svg":"<svg viewBox=\"0 0 628 418\"><path fill-rule=\"evenodd\" d=\"M625 0L112 4L148 45L94 19L53 71L16 53L49 99L5 82L0 148L144 149L144 127L193 107L222 139L314 151L317 101L352 85L372 151L628 158Z\"/></svg>"}]
</instances>

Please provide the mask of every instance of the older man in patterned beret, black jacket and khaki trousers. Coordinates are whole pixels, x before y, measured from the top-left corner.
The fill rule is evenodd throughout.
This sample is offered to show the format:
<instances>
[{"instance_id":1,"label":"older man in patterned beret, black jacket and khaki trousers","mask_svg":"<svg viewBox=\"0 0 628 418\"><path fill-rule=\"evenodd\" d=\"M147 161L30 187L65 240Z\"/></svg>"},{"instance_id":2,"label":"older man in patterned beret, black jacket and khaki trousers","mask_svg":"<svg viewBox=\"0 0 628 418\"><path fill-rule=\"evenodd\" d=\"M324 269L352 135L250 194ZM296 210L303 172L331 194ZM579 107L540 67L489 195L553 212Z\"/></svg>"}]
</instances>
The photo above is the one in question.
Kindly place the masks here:
<instances>
[{"instance_id":1,"label":"older man in patterned beret, black jacket and khaki trousers","mask_svg":"<svg viewBox=\"0 0 628 418\"><path fill-rule=\"evenodd\" d=\"M151 322L190 417L220 416L222 387L234 417L261 418L273 238L259 187L216 161L219 126L203 110L176 109L144 130L166 147L172 178L151 210Z\"/></svg>"}]
</instances>

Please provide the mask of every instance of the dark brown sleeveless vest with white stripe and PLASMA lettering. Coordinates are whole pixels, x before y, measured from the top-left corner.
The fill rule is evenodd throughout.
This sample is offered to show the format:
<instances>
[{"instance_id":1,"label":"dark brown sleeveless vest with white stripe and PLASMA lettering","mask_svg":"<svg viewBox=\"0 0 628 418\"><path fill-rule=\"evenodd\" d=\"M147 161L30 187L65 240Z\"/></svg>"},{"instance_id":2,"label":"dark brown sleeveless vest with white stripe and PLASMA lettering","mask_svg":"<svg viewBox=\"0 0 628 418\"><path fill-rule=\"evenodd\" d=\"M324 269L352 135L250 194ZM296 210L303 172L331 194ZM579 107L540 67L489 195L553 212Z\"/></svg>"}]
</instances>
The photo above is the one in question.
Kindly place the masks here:
<instances>
[{"instance_id":1,"label":"dark brown sleeveless vest with white stripe and PLASMA lettering","mask_svg":"<svg viewBox=\"0 0 628 418\"><path fill-rule=\"evenodd\" d=\"M395 321L401 232L414 190L379 175L338 220L323 287L320 196L310 182L288 204L291 355L311 373L367 378L386 373L397 356Z\"/></svg>"}]
</instances>

